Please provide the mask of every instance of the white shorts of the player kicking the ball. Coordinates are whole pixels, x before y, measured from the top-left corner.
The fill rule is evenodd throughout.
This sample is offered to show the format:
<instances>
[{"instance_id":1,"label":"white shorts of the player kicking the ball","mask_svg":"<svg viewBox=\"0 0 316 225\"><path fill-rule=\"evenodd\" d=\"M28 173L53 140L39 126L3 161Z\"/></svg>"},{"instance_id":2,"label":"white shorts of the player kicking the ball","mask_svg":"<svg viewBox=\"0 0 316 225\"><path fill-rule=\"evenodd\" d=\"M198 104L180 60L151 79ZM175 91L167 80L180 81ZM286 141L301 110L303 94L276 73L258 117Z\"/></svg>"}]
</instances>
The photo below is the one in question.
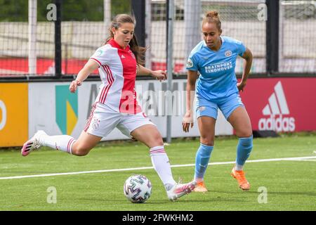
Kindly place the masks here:
<instances>
[{"instance_id":1,"label":"white shorts of the player kicking the ball","mask_svg":"<svg viewBox=\"0 0 316 225\"><path fill-rule=\"evenodd\" d=\"M88 134L105 137L117 127L122 134L132 138L131 132L145 124L156 126L143 112L137 114L118 113L107 105L94 103L84 131Z\"/></svg>"}]
</instances>

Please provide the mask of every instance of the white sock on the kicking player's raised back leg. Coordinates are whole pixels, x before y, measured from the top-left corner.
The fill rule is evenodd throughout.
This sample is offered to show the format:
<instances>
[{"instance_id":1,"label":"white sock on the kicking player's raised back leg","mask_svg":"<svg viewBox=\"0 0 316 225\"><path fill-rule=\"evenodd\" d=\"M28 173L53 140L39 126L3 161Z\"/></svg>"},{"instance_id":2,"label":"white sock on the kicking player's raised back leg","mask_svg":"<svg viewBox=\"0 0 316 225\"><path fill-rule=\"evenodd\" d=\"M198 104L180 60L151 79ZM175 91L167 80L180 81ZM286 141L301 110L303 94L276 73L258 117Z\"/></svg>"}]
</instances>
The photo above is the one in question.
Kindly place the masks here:
<instances>
[{"instance_id":1,"label":"white sock on the kicking player's raised back leg","mask_svg":"<svg viewBox=\"0 0 316 225\"><path fill-rule=\"evenodd\" d=\"M56 150L62 150L63 152L70 154L72 154L72 145L75 141L77 140L68 135L41 135L39 137L39 143L41 144L41 146L47 146Z\"/></svg>"}]
</instances>

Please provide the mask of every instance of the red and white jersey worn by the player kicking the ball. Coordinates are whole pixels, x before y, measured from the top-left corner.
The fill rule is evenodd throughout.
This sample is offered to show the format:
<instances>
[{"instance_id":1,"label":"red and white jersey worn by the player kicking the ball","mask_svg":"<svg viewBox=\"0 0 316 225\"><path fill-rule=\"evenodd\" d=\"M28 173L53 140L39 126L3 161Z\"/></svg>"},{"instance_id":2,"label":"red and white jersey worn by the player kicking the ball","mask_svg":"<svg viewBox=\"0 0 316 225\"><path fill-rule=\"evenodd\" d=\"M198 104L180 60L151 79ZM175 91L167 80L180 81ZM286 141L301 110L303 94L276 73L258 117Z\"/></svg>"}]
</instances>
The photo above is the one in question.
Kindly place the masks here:
<instances>
[{"instance_id":1,"label":"red and white jersey worn by the player kicking the ball","mask_svg":"<svg viewBox=\"0 0 316 225\"><path fill-rule=\"evenodd\" d=\"M129 46L123 49L111 39L90 59L98 63L102 80L96 102L119 113L140 113L135 91L136 58Z\"/></svg>"}]
</instances>

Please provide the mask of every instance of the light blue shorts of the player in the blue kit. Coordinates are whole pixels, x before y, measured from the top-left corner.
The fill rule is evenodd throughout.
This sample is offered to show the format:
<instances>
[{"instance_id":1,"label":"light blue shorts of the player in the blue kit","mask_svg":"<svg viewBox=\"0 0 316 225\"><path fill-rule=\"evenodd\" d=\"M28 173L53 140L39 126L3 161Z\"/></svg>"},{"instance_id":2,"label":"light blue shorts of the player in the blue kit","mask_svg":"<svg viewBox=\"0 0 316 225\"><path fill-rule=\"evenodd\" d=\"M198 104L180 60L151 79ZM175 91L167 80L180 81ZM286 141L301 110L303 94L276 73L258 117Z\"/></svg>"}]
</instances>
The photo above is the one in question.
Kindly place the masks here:
<instances>
[{"instance_id":1,"label":"light blue shorts of the player in the blue kit","mask_svg":"<svg viewBox=\"0 0 316 225\"><path fill-rule=\"evenodd\" d=\"M197 98L196 115L197 118L207 116L213 117L216 120L219 108L226 120L228 120L230 114L232 114L232 112L239 106L244 107L244 104L242 103L242 98L240 98L239 94L232 94L228 98L217 101L216 103L208 101L204 98Z\"/></svg>"}]
</instances>

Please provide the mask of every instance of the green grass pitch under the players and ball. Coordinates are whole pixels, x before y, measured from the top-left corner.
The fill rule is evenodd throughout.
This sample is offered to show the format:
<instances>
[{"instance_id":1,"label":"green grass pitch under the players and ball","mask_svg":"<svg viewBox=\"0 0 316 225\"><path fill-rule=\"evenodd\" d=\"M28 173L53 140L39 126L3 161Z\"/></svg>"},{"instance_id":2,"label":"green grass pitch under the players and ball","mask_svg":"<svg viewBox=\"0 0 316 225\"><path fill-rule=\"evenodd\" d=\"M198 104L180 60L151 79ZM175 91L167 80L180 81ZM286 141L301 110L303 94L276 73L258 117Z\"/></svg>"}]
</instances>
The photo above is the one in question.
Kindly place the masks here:
<instances>
[{"instance_id":1,"label":"green grass pitch under the players and ball","mask_svg":"<svg viewBox=\"0 0 316 225\"><path fill-rule=\"evenodd\" d=\"M199 140L176 139L166 146L171 165L195 163ZM211 162L235 160L237 139L217 137ZM254 139L249 160L316 156L316 134L294 134ZM245 166L251 190L244 192L230 176L232 164L210 165L205 174L207 193L191 193L172 203L154 169L73 174L23 179L0 179L0 210L316 210L316 160L249 162ZM27 157L16 149L0 151L0 177L60 172L80 172L130 167L152 167L147 147L139 142L100 143L85 157L41 148ZM191 181L194 168L173 167L173 176ZM123 193L131 174L152 182L146 203L133 204ZM48 204L48 187L55 187L57 203ZM261 187L268 203L258 203ZM259 188L259 189L258 189ZM259 191L258 191L259 190Z\"/></svg>"}]
</instances>

